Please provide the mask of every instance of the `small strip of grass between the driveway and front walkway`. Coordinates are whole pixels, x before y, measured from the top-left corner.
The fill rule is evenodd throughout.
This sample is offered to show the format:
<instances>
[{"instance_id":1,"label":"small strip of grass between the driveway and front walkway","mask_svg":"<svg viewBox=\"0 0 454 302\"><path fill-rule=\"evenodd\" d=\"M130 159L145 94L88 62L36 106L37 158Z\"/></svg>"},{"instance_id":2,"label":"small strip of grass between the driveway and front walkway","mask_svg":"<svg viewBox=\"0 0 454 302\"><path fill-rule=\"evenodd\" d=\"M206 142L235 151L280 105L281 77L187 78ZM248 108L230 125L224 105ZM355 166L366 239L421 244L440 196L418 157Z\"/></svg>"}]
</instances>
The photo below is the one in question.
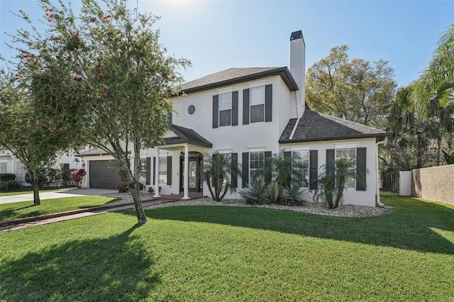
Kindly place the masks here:
<instances>
[{"instance_id":1,"label":"small strip of grass between the driveway and front walkway","mask_svg":"<svg viewBox=\"0 0 454 302\"><path fill-rule=\"evenodd\" d=\"M40 206L33 206L33 201L0 204L0 221L25 217L60 213L80 208L101 206L116 198L101 196L75 196L55 199L43 199Z\"/></svg>"}]
</instances>

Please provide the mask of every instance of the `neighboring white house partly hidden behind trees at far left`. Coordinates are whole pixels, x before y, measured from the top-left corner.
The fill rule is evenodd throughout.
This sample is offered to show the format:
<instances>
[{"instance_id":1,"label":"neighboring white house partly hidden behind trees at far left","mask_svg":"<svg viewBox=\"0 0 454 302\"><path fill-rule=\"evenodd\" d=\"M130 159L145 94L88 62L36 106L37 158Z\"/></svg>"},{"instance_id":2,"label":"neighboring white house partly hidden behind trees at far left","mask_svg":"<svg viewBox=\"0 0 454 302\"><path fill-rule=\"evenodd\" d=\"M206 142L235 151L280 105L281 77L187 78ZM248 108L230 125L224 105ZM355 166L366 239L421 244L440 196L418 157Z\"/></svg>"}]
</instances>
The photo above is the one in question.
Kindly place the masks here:
<instances>
[{"instance_id":1,"label":"neighboring white house partly hidden behind trees at far left","mask_svg":"<svg viewBox=\"0 0 454 302\"><path fill-rule=\"evenodd\" d=\"M75 158L74 155L59 155L52 167L54 169L78 169L81 167L81 164L79 164ZM14 157L8 150L0 151L0 174L1 173L16 174L16 180L22 184L26 184L26 168L23 166L22 162Z\"/></svg>"}]
</instances>

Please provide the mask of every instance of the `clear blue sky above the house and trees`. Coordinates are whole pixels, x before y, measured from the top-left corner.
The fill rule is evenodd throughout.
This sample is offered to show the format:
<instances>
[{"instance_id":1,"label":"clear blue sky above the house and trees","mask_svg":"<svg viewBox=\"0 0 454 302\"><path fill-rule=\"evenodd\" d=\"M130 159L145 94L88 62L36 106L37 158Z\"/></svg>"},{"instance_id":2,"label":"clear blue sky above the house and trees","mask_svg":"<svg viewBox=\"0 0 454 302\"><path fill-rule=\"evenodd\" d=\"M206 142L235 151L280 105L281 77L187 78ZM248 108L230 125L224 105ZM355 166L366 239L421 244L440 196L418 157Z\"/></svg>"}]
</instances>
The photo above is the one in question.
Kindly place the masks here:
<instances>
[{"instance_id":1,"label":"clear blue sky above the house and trees","mask_svg":"<svg viewBox=\"0 0 454 302\"><path fill-rule=\"evenodd\" d=\"M230 67L288 66L290 33L302 30L306 69L331 47L346 44L350 59L388 60L398 85L405 86L419 77L454 23L454 1L139 0L138 8L161 17L155 28L170 55L192 61L181 71L187 81ZM43 14L34 0L0 0L0 50L6 57L11 52L4 32L23 26L10 13L19 9L35 20Z\"/></svg>"}]
</instances>

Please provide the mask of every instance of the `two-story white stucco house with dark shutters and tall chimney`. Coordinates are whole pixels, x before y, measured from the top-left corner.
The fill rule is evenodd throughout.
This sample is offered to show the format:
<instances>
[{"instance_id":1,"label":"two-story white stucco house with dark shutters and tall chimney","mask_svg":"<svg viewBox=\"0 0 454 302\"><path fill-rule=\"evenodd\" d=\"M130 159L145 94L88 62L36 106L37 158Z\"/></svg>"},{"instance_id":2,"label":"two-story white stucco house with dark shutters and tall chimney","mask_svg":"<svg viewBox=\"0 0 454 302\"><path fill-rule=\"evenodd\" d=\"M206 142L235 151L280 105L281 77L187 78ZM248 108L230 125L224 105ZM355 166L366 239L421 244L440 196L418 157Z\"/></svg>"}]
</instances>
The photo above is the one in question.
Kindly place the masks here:
<instances>
[{"instance_id":1,"label":"two-story white stucco house with dark shutters and tall chimney","mask_svg":"<svg viewBox=\"0 0 454 302\"><path fill-rule=\"evenodd\" d=\"M237 192L226 197L240 198L238 191L258 172L265 158L284 150L303 162L301 186L308 188L327 160L357 159L358 168L368 171L363 175L367 186L348 180L344 201L375 206L377 142L387 133L306 107L305 47L299 30L290 38L289 69L231 68L182 84L182 94L172 98L176 113L170 116L164 144L141 154L140 181L154 186L155 192L161 186L161 194L183 192L183 198L189 198L189 192L206 195L208 189L200 178L204 153L231 153L243 173L233 176ZM118 179L118 168L112 166L109 155L99 156L99 151L94 151L82 158L87 162L87 186L112 185L94 181L97 167L116 173Z\"/></svg>"}]
</instances>

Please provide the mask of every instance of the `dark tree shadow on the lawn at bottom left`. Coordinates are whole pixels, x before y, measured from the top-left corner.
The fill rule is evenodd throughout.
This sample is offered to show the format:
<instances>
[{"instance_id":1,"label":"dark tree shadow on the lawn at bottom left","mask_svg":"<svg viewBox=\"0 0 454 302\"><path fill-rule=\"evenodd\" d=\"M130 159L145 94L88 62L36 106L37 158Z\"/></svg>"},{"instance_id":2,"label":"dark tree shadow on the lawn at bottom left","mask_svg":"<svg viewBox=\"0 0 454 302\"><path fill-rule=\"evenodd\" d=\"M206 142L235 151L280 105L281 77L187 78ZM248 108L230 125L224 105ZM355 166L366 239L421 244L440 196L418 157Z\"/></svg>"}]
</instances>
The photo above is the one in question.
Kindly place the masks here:
<instances>
[{"instance_id":1,"label":"dark tree shadow on the lawn at bottom left","mask_svg":"<svg viewBox=\"0 0 454 302\"><path fill-rule=\"evenodd\" d=\"M76 240L1 264L1 301L138 301L159 276L133 227L104 239Z\"/></svg>"}]
</instances>

